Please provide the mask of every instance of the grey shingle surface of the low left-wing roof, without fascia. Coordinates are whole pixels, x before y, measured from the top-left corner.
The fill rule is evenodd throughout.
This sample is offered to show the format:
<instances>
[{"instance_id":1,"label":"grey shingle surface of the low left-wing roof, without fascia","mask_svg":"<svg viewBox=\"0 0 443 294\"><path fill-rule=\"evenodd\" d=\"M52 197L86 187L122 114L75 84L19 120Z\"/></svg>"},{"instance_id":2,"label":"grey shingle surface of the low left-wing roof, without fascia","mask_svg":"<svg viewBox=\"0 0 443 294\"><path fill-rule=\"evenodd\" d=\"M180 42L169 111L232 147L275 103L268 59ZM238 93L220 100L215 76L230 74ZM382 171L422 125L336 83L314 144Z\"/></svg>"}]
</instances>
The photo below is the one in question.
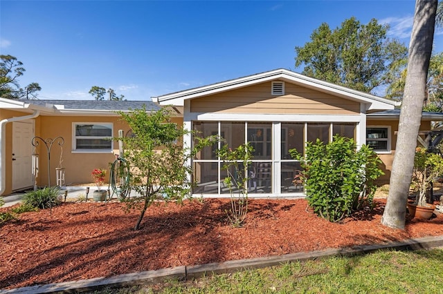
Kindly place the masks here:
<instances>
[{"instance_id":1,"label":"grey shingle surface of the low left-wing roof, without fascia","mask_svg":"<svg viewBox=\"0 0 443 294\"><path fill-rule=\"evenodd\" d=\"M75 109L75 110L134 110L136 108L141 108L143 104L146 106L146 110L159 110L159 106L153 101L109 101L109 100L24 100L29 104L35 104L38 106L48 106L48 104L53 105L63 105L64 109Z\"/></svg>"}]
</instances>

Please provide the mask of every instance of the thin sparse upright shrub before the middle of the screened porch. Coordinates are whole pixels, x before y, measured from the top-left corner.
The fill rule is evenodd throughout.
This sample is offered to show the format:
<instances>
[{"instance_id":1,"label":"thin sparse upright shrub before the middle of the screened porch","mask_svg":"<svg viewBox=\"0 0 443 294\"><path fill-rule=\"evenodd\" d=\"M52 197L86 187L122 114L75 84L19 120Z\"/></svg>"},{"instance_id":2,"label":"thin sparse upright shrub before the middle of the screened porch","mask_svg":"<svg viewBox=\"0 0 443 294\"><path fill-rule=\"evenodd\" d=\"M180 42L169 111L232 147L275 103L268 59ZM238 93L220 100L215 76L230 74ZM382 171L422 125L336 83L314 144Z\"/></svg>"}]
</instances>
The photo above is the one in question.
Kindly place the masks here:
<instances>
[{"instance_id":1,"label":"thin sparse upright shrub before the middle of the screened porch","mask_svg":"<svg viewBox=\"0 0 443 294\"><path fill-rule=\"evenodd\" d=\"M232 150L224 144L217 150L217 156L223 160L221 168L228 174L224 183L230 192L230 223L235 227L242 226L248 213L248 168L251 165L253 146L242 144Z\"/></svg>"}]
</instances>

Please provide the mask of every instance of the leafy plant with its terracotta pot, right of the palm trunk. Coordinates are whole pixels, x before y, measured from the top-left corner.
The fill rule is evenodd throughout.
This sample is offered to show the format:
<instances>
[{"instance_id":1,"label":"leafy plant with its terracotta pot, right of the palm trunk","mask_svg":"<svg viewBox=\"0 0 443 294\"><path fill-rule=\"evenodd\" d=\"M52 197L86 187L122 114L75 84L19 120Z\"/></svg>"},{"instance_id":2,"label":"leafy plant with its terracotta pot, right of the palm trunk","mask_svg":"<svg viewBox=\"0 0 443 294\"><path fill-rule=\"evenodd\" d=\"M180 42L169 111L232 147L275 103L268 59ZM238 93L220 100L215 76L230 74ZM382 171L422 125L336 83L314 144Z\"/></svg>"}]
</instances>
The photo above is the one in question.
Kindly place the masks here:
<instances>
[{"instance_id":1,"label":"leafy plant with its terracotta pot, right of the palm trunk","mask_svg":"<svg viewBox=\"0 0 443 294\"><path fill-rule=\"evenodd\" d=\"M428 203L428 192L435 179L443 175L443 158L426 149L417 147L415 150L412 185L415 201L408 202L410 217L430 219L435 205Z\"/></svg>"}]
</instances>

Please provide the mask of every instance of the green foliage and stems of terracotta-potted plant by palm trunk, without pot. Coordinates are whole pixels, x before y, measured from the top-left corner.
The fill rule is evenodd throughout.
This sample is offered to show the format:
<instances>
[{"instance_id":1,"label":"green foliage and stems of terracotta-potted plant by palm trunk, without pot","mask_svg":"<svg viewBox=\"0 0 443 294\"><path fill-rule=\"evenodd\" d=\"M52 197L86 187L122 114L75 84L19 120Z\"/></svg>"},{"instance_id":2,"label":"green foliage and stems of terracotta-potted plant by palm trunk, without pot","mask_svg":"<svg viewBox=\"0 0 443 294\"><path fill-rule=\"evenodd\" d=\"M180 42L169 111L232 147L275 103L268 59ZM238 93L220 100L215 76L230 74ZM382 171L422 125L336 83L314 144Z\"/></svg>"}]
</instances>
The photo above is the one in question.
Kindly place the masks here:
<instances>
[{"instance_id":1,"label":"green foliage and stems of terracotta-potted plant by palm trunk, without pot","mask_svg":"<svg viewBox=\"0 0 443 294\"><path fill-rule=\"evenodd\" d=\"M428 153L425 148L415 149L412 188L417 193L414 204L426 206L426 195L432 183L443 175L443 158L435 153Z\"/></svg>"}]
</instances>

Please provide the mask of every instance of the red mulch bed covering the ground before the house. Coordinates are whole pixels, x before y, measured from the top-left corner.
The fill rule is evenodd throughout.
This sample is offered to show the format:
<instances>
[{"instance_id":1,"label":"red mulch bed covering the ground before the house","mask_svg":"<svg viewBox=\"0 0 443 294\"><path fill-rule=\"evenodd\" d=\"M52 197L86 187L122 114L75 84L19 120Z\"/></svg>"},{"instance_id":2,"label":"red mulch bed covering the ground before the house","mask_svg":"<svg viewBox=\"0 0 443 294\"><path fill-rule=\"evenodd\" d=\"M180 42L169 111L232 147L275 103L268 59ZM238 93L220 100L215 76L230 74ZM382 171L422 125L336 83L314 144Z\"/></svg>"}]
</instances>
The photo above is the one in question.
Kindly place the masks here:
<instances>
[{"instance_id":1,"label":"red mulch bed covering the ground before the house","mask_svg":"<svg viewBox=\"0 0 443 294\"><path fill-rule=\"evenodd\" d=\"M123 204L66 203L0 227L0 288L443 235L443 215L413 219L405 231L382 226L383 206L333 224L305 199L253 199L244 227L233 228L228 199L160 203L133 231L138 212Z\"/></svg>"}]
</instances>

